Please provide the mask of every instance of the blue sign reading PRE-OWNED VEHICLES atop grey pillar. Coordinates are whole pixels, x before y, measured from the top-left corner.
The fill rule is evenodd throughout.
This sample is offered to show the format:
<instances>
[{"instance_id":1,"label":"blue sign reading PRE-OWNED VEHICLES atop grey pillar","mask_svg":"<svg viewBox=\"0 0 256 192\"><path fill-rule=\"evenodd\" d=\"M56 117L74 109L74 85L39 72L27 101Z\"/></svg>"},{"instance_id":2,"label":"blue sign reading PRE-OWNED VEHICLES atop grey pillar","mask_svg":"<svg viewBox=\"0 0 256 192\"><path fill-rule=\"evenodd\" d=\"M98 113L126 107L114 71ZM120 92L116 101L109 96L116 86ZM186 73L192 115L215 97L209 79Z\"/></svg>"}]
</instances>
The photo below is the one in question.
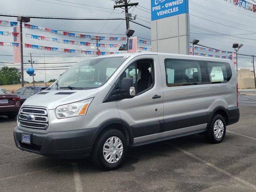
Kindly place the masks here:
<instances>
[{"instance_id":1,"label":"blue sign reading PRE-OWNED VEHICLES atop grey pillar","mask_svg":"<svg viewBox=\"0 0 256 192\"><path fill-rule=\"evenodd\" d=\"M151 20L188 13L188 0L151 0Z\"/></svg>"}]
</instances>

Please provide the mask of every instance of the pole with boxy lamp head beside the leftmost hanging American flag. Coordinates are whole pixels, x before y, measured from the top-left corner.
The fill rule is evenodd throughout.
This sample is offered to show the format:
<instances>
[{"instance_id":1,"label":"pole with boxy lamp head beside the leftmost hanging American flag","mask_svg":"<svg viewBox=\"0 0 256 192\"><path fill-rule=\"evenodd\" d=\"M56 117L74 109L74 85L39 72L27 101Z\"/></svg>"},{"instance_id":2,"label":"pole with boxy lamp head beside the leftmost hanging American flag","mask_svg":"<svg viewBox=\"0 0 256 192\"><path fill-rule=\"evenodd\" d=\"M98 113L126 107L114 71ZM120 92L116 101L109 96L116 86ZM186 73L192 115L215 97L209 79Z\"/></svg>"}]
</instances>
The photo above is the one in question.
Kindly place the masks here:
<instances>
[{"instance_id":1,"label":"pole with boxy lamp head beside the leftmost hanging American flag","mask_svg":"<svg viewBox=\"0 0 256 192\"><path fill-rule=\"evenodd\" d=\"M20 22L20 64L21 64L21 86L24 87L24 71L23 71L23 41L22 41L22 22L30 22L30 18L18 16L17 21Z\"/></svg>"}]
</instances>

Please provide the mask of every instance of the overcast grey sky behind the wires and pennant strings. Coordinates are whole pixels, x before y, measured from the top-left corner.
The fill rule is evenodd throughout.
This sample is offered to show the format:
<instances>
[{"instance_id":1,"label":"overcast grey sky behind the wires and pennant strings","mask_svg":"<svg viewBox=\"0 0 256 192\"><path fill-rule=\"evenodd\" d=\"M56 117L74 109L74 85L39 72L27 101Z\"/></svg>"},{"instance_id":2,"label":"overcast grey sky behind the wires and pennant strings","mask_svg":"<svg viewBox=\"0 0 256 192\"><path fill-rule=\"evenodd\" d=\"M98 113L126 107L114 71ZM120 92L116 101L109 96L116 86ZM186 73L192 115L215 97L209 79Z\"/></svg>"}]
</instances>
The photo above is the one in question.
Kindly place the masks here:
<instances>
[{"instance_id":1,"label":"overcast grey sky behind the wires and pennant strings","mask_svg":"<svg viewBox=\"0 0 256 192\"><path fill-rule=\"evenodd\" d=\"M63 2L66 1L66 2ZM124 18L122 9L116 9L112 12L114 1L112 0L0 0L1 14L17 14L17 15L30 15L30 16L52 16L52 17L83 17L83 18ZM68 3L72 2L72 3ZM136 2L133 0L132 2ZM150 0L138 0L139 6L137 8L130 8L129 12L133 15L137 14L136 22L150 26ZM252 2L252 0L249 0ZM74 4L78 3L78 4ZM86 5L80 5L86 4ZM256 4L256 3L254 3ZM95 6L95 7L94 7ZM98 7L99 6L99 7ZM232 44L234 42L242 43L244 46L239 50L239 53L256 55L256 13L239 8L224 0L189 0L190 12L190 41L194 38L200 40L200 44L220 50L234 51ZM0 20L16 21L14 17L0 16ZM49 19L34 19L30 20L31 25L42 26L56 30L65 31L79 31L82 34L92 33L106 33L98 34L98 36L125 36L126 23L123 20L110 20L106 21L81 21L81 20L49 20ZM103 27L104 26L104 27ZM102 28L103 27L103 28ZM134 36L139 39L144 38L150 41L150 29L144 28L134 23L130 23L130 28L135 30ZM0 31L12 32L12 27L0 26ZM89 39L70 38L67 36L54 35L49 32L41 32L39 30L24 29L24 33L35 34L40 36L68 39L75 41L88 41ZM77 32L78 33L78 32ZM111 34L110 34L111 33ZM220 36L216 34L229 34L233 36ZM254 34L253 34L254 33ZM123 34L123 35L115 35ZM215 35L209 35L215 34ZM86 49L95 50L90 47L83 47L77 45L61 44L49 41L38 41L23 38L24 43L36 44L42 46L52 46L58 48L70 49ZM12 36L0 36L0 42L13 42ZM92 42L92 41L89 41ZM114 43L124 44L125 42L110 42L101 41L100 43ZM150 47L145 44L138 44L138 46ZM100 48L101 51L116 52L118 48ZM34 56L54 56L46 57L47 62L77 62L83 60L85 57L82 54L66 54L59 52L40 51L30 48L24 48L24 62L30 60L29 54L32 53L32 60L35 62L43 62L43 57ZM203 53L203 52L202 52ZM0 54L13 54L13 48L3 46L0 47ZM62 57L57 57L62 56ZM68 56L68 57L63 57ZM74 56L74 57L70 57ZM80 56L80 57L76 57ZM244 57L244 56L241 56ZM238 68L247 67L252 70L252 58L238 58ZM1 56L0 62L13 62L12 56ZM13 64L12 64L13 65ZM69 66L72 63L66 64L46 64L46 66ZM1 63L1 67L3 64ZM9 64L10 66L10 64ZM25 68L29 67L25 64ZM34 67L42 66L42 64L35 64ZM18 66L19 67L19 66ZM58 78L59 74L65 70L47 70L47 81L51 78ZM24 79L32 81L32 77L24 73ZM36 71L35 80L44 80L44 71Z\"/></svg>"}]
</instances>

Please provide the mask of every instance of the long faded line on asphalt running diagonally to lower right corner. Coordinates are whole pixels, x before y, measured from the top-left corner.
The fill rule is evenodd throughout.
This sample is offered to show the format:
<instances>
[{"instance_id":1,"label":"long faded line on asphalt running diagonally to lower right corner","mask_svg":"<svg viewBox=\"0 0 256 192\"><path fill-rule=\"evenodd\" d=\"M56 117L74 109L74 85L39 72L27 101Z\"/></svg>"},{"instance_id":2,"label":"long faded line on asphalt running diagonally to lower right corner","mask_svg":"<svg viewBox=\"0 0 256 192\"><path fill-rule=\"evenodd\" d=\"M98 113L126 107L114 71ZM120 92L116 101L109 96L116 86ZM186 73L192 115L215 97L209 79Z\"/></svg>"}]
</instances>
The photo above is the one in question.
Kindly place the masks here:
<instances>
[{"instance_id":1,"label":"long faded line on asphalt running diagonally to lower right corner","mask_svg":"<svg viewBox=\"0 0 256 192\"><path fill-rule=\"evenodd\" d=\"M217 171L219 171L219 172L222 172L223 174L226 174L226 175L230 176L230 177L233 178L234 180L237 180L238 182L240 182L240 183L242 183L242 184L244 184L244 185L246 185L246 186L248 186L248 187L250 187L250 188L256 190L256 186L255 186L254 184L251 184L251 183L249 183L249 182L247 182L247 181L245 181L245 180L243 180L243 179L241 179L241 178L239 178L239 177L237 177L237 176L234 176L234 175L230 174L229 172L227 172L227 171L225 171L225 170L223 170L223 169L221 169L221 168L215 166L214 164L211 164L211 163L207 162L206 160L203 160L203 159L201 159L201 158L199 158L199 157L193 155L192 153L190 153L190 152L188 152L188 151L186 151L186 150L183 150L182 148L179 148L179 147L177 147L177 146L175 146L175 145L173 145L173 144L170 144L170 143L168 143L168 144L169 144L170 146L176 148L176 149L179 150L180 152L183 152L184 154L186 154L186 155L188 155L188 156L190 156L190 157L192 157L192 158L194 158L194 159L196 159L196 160L198 160L198 161L200 161L200 162L206 164L207 166L210 166L210 167L214 168L215 170L217 170Z\"/></svg>"}]
</instances>

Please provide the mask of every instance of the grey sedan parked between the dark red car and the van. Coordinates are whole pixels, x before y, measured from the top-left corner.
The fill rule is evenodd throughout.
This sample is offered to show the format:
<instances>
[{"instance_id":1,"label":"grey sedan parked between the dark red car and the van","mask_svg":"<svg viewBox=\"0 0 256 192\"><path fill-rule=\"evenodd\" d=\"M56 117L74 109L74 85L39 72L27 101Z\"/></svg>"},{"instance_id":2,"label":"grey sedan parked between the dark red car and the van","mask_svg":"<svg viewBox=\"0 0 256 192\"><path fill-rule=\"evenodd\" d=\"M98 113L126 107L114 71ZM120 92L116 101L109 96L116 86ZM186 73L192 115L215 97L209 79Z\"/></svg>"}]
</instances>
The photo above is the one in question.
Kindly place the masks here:
<instances>
[{"instance_id":1,"label":"grey sedan parked between the dark red car and the van","mask_svg":"<svg viewBox=\"0 0 256 192\"><path fill-rule=\"evenodd\" d=\"M16 90L16 92L14 92L14 94L16 94L20 97L20 102L21 102L21 104L23 104L27 98L29 98L30 96L32 96L34 94L41 92L42 90L45 90L45 87L28 86L28 87L22 87L22 88Z\"/></svg>"}]
</instances>

